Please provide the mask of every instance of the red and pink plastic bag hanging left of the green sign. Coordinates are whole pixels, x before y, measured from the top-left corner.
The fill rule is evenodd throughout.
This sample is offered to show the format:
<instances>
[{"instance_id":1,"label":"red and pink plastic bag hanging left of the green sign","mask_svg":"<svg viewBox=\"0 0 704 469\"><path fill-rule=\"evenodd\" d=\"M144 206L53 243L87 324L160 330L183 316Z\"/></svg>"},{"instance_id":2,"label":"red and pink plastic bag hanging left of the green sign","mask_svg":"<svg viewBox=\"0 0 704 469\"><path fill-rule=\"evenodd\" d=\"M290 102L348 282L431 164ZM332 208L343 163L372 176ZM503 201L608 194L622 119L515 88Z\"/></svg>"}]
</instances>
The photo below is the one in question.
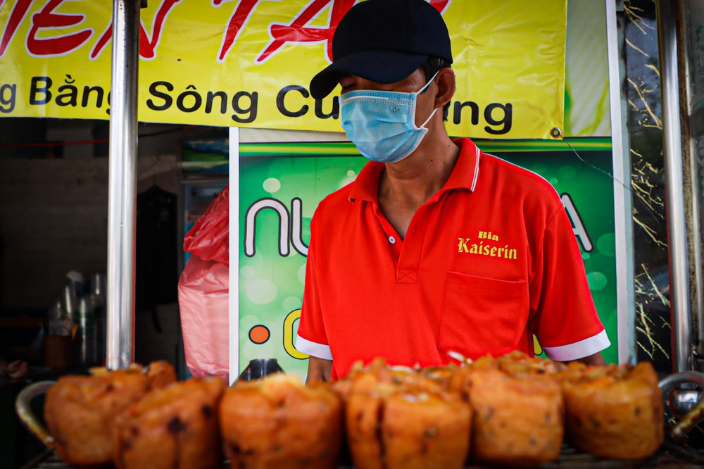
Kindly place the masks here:
<instances>
[{"instance_id":1,"label":"red and pink plastic bag hanging left of the green sign","mask_svg":"<svg viewBox=\"0 0 704 469\"><path fill-rule=\"evenodd\" d=\"M186 365L196 377L228 379L229 371L229 186L187 233L191 253L178 283Z\"/></svg>"}]
</instances>

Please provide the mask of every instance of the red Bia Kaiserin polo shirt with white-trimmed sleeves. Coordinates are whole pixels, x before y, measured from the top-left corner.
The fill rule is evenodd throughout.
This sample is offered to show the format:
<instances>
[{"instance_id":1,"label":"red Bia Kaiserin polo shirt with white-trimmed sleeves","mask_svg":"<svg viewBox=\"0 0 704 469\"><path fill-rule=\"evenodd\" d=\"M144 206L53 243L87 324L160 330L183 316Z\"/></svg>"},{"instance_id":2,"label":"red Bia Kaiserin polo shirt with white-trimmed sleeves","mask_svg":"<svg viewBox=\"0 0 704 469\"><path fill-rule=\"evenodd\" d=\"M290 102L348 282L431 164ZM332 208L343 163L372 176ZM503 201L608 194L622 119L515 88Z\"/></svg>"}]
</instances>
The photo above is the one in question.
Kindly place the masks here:
<instances>
[{"instance_id":1,"label":"red Bia Kaiserin polo shirt with white-trimmed sleeves","mask_svg":"<svg viewBox=\"0 0 704 469\"><path fill-rule=\"evenodd\" d=\"M418 208L403 241L377 204L384 165L327 196L310 224L296 349L333 361L333 377L377 356L444 365L520 349L538 337L567 361L609 346L555 189L458 139L460 156Z\"/></svg>"}]
</instances>

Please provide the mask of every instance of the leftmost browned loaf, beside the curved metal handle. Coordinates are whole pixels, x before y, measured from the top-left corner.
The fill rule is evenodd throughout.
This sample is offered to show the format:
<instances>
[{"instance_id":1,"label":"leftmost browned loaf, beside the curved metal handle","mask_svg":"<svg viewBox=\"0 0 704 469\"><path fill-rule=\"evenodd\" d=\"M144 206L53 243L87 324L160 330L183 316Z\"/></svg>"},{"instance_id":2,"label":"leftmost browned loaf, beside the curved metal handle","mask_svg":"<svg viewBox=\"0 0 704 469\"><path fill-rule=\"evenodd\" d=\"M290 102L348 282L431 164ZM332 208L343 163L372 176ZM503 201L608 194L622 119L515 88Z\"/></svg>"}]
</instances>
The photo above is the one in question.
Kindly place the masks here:
<instances>
[{"instance_id":1,"label":"leftmost browned loaf, beside the curved metal handle","mask_svg":"<svg viewBox=\"0 0 704 469\"><path fill-rule=\"evenodd\" d=\"M115 418L149 389L141 368L58 378L44 403L46 427L58 456L75 465L110 463Z\"/></svg>"}]
</instances>

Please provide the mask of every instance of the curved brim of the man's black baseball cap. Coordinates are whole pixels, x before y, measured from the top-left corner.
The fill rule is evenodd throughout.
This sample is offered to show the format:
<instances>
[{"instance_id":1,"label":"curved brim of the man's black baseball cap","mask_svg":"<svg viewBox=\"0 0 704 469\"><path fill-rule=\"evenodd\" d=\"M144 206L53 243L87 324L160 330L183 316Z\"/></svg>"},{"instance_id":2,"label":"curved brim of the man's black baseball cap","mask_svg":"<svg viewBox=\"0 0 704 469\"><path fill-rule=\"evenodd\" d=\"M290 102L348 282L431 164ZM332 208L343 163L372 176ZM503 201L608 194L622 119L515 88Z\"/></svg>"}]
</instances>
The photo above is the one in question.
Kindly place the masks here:
<instances>
[{"instance_id":1,"label":"curved brim of the man's black baseball cap","mask_svg":"<svg viewBox=\"0 0 704 469\"><path fill-rule=\"evenodd\" d=\"M310 95L325 98L341 77L352 74L379 83L403 80L420 67L427 55L402 54L389 51L362 51L339 58L310 80Z\"/></svg>"}]
</instances>

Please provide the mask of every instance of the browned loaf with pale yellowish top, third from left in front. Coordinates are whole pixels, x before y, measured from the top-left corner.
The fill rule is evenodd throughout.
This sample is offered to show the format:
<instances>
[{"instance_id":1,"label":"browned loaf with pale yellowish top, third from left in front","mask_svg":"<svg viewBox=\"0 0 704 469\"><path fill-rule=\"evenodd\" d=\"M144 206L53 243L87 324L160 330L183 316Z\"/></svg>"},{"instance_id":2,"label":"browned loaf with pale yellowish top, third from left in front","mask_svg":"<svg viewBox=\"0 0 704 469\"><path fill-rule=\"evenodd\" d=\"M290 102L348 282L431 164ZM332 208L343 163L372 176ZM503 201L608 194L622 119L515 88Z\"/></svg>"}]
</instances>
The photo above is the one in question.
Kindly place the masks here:
<instances>
[{"instance_id":1,"label":"browned loaf with pale yellowish top, third from left in front","mask_svg":"<svg viewBox=\"0 0 704 469\"><path fill-rule=\"evenodd\" d=\"M341 443L342 404L327 387L275 373L227 389L220 430L232 469L333 469Z\"/></svg>"}]
</instances>

